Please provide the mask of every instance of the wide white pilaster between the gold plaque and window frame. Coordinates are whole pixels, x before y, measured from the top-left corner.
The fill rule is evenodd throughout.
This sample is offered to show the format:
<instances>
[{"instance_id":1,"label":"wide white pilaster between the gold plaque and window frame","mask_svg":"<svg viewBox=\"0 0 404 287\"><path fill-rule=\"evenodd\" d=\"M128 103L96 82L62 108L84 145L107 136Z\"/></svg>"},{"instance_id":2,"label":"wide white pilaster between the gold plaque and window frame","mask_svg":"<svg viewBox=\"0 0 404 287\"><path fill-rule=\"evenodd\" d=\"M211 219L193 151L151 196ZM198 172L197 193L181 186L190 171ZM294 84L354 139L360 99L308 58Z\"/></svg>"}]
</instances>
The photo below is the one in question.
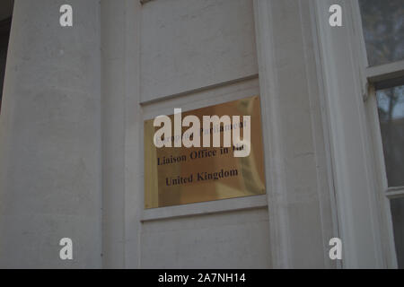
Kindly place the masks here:
<instances>
[{"instance_id":1,"label":"wide white pilaster between the gold plaque and window frame","mask_svg":"<svg viewBox=\"0 0 404 287\"><path fill-rule=\"evenodd\" d=\"M273 265L335 268L328 252L338 228L312 4L255 0L254 12Z\"/></svg>"}]
</instances>

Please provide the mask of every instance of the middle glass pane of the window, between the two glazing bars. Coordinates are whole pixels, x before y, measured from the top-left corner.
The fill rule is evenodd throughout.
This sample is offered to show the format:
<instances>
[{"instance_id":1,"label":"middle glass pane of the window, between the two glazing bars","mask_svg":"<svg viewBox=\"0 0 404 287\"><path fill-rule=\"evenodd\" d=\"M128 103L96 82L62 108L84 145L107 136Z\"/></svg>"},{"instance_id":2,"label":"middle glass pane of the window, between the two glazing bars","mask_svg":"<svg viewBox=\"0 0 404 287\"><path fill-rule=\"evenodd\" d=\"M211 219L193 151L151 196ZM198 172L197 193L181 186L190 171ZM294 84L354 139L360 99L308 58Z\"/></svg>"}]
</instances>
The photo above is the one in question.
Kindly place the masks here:
<instances>
[{"instance_id":1,"label":"middle glass pane of the window, between the two glazing bars","mask_svg":"<svg viewBox=\"0 0 404 287\"><path fill-rule=\"evenodd\" d=\"M404 85L376 93L389 187L404 186Z\"/></svg>"}]
</instances>

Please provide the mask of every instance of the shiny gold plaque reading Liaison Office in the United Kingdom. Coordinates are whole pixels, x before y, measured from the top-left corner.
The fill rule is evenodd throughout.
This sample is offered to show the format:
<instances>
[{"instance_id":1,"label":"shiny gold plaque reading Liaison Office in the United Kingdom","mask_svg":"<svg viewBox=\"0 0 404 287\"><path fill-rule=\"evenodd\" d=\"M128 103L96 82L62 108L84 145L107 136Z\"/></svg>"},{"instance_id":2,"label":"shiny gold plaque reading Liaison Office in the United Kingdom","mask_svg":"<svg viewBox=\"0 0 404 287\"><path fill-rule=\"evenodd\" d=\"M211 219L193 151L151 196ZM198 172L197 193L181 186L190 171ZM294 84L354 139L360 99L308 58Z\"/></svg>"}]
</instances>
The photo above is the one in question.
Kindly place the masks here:
<instances>
[{"instance_id":1,"label":"shiny gold plaque reading Liaison Office in the United Kingdom","mask_svg":"<svg viewBox=\"0 0 404 287\"><path fill-rule=\"evenodd\" d=\"M189 110L181 116L183 119L189 115L200 120L201 147L187 148L183 144L174 147L172 143L172 147L157 148L154 134L161 126L154 126L154 119L145 121L145 209L265 194L259 96ZM231 147L224 147L224 125L216 129L220 133L220 147L213 147L213 144L203 147L203 116L215 115L240 116L241 138L245 126L242 125L243 116L250 116L248 156L235 157L233 141ZM174 115L169 117L174 131ZM214 125L210 127L210 132L214 133ZM181 135L188 129L189 126L181 125ZM211 143L212 138L213 135Z\"/></svg>"}]
</instances>

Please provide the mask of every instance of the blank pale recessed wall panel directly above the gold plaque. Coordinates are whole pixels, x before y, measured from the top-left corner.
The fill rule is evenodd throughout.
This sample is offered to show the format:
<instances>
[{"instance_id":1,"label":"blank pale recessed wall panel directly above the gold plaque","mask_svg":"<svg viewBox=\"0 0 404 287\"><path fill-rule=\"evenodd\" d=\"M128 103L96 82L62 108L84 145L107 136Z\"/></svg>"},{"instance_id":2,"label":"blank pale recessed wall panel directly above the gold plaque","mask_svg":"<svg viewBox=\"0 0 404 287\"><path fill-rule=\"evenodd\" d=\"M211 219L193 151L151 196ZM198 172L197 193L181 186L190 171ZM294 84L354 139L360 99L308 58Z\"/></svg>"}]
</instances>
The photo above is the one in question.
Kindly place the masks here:
<instances>
[{"instance_id":1,"label":"blank pale recessed wall panel directly above the gold plaque","mask_svg":"<svg viewBox=\"0 0 404 287\"><path fill-rule=\"evenodd\" d=\"M141 100L258 74L251 0L142 6Z\"/></svg>"}]
</instances>

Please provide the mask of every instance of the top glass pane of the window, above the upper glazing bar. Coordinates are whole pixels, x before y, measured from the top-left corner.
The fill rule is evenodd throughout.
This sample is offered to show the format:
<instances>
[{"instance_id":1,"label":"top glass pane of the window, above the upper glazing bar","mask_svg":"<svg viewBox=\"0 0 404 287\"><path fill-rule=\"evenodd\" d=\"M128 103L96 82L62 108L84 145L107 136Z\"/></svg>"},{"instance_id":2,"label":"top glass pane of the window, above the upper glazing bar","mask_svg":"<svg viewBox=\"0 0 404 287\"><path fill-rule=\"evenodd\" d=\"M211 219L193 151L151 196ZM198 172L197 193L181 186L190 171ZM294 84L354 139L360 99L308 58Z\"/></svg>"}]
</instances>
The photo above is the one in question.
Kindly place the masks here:
<instances>
[{"instance_id":1,"label":"top glass pane of the window, above the upper glazing bar","mask_svg":"<svg viewBox=\"0 0 404 287\"><path fill-rule=\"evenodd\" d=\"M404 0L359 0L369 65L404 59Z\"/></svg>"}]
</instances>

